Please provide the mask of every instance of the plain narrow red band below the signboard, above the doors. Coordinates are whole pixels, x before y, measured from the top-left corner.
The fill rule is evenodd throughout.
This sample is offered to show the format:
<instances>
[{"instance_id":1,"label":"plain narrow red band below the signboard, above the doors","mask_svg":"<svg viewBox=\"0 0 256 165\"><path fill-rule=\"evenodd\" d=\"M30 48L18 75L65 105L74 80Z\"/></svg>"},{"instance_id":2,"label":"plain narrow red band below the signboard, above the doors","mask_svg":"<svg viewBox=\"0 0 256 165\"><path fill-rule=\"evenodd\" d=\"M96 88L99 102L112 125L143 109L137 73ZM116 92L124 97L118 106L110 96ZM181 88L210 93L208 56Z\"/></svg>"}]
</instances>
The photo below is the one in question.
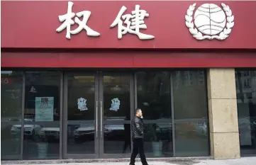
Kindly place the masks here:
<instances>
[{"instance_id":1,"label":"plain narrow red band below the signboard, above the doors","mask_svg":"<svg viewBox=\"0 0 256 165\"><path fill-rule=\"evenodd\" d=\"M256 67L255 52L2 52L1 67L188 68Z\"/></svg>"}]
</instances>

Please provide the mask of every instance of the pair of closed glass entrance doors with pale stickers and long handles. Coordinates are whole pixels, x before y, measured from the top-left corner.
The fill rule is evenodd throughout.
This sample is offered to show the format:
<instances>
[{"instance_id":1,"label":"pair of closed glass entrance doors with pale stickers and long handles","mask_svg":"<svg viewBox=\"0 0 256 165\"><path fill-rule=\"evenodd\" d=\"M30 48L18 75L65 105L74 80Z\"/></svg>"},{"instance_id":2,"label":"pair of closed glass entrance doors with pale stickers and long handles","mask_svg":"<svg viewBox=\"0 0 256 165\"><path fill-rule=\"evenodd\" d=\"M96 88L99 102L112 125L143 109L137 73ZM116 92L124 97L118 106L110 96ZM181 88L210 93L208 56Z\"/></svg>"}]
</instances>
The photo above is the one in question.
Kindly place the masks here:
<instances>
[{"instance_id":1,"label":"pair of closed glass entrance doors with pale stickers and long handles","mask_svg":"<svg viewBox=\"0 0 256 165\"><path fill-rule=\"evenodd\" d=\"M127 157L134 108L130 74L65 73L65 159Z\"/></svg>"}]
</instances>

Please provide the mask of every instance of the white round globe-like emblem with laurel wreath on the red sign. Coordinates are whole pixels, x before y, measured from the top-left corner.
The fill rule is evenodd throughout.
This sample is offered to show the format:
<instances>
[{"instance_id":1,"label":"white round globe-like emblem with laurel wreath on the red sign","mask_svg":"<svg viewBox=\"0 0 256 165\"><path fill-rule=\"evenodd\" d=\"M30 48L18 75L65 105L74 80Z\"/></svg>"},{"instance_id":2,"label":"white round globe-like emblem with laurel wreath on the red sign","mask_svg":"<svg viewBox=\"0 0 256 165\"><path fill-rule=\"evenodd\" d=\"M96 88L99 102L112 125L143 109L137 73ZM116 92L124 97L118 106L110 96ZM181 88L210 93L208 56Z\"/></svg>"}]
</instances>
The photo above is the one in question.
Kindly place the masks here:
<instances>
[{"instance_id":1,"label":"white round globe-like emblem with laurel wreath on the red sign","mask_svg":"<svg viewBox=\"0 0 256 165\"><path fill-rule=\"evenodd\" d=\"M197 40L224 40L234 26L234 16L229 6L221 4L202 4L195 10L196 4L189 6L185 16L189 32ZM194 14L194 17L193 17Z\"/></svg>"}]
</instances>

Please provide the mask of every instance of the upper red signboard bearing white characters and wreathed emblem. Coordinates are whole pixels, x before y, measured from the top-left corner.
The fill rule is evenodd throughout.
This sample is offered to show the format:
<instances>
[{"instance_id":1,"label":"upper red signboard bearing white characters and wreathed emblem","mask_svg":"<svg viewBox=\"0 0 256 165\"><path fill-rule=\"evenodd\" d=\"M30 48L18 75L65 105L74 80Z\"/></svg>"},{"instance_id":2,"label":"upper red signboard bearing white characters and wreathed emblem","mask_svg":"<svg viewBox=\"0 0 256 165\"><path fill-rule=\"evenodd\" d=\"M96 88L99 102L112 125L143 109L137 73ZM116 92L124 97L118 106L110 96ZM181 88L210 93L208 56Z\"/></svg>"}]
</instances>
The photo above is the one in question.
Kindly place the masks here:
<instances>
[{"instance_id":1,"label":"upper red signboard bearing white characters and wreathed emblem","mask_svg":"<svg viewBox=\"0 0 256 165\"><path fill-rule=\"evenodd\" d=\"M72 16L74 25L71 25L70 30L73 34L67 39L68 26L60 27L65 23L65 19L60 17L63 21L60 22L59 16L67 13L68 1L1 1L1 47L256 49L256 1L73 1L73 3L71 13L76 16ZM193 6L194 3L196 4ZM207 27L200 29L201 20L204 19L200 18L196 21L194 15L199 16L199 6L208 3L216 5L209 5L212 10L216 9L215 12L219 10L217 8L219 6L226 13L224 15L226 29L221 28L225 33L215 35L217 37L213 40L207 38L196 40L200 38L199 31L206 32ZM224 6L221 3L225 3ZM136 21L145 21L147 29L140 29L140 33L152 35L154 38L151 36L149 40L140 40L143 36L138 35L138 26L133 27L132 30L133 23L131 23L129 29L121 31L122 38L118 39L119 20L115 23L115 19L118 13L122 13L124 9L122 6L126 10L120 16L135 14L137 12L135 8L138 7L144 10L140 12L140 14L144 12L143 18ZM204 10L204 7L202 6L201 10ZM129 16L130 20L133 19L133 16L126 15L123 21ZM75 17L80 18L76 21ZM214 21L213 17L211 21ZM210 24L213 23L211 21ZM79 23L82 29L78 28ZM141 25L140 28L145 28L145 25ZM191 25L194 26L188 28ZM225 36L225 40L219 40Z\"/></svg>"}]
</instances>

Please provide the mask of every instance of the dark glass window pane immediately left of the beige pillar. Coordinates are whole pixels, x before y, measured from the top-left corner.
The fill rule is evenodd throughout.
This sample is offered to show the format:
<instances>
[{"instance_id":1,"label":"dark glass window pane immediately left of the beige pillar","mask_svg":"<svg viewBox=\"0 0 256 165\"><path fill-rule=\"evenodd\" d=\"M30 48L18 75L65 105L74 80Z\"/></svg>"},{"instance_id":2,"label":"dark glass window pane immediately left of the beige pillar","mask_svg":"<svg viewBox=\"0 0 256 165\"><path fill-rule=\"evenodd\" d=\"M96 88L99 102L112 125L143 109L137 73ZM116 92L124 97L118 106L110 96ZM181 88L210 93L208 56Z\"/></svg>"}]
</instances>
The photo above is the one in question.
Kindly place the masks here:
<instances>
[{"instance_id":1,"label":"dark glass window pane immediately left of the beige pillar","mask_svg":"<svg viewBox=\"0 0 256 165\"><path fill-rule=\"evenodd\" d=\"M208 156L208 113L204 71L173 74L177 157Z\"/></svg>"}]
</instances>

